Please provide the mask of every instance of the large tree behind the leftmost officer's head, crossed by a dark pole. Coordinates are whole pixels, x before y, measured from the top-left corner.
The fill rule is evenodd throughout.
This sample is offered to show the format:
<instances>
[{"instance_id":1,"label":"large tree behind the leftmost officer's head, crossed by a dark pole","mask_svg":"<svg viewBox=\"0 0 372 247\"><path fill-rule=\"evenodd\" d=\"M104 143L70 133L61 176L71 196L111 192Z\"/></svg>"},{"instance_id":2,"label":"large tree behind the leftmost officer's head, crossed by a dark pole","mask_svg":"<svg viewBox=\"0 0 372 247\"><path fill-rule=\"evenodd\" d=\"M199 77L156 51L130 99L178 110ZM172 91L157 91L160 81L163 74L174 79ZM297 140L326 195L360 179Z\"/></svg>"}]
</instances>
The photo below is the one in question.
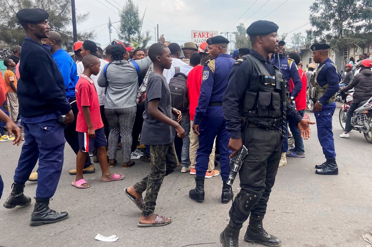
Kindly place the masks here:
<instances>
[{"instance_id":1,"label":"large tree behind the leftmost officer's head, crossed by a dark pole","mask_svg":"<svg viewBox=\"0 0 372 247\"><path fill-rule=\"evenodd\" d=\"M17 25L16 13L24 8L40 8L49 13L48 22L51 30L59 32L64 41L64 48L72 50L72 14L70 0L0 0L0 40L9 45L22 45L25 31ZM84 22L89 13L78 14L76 21ZM79 40L94 39L94 31L78 32Z\"/></svg>"}]
</instances>

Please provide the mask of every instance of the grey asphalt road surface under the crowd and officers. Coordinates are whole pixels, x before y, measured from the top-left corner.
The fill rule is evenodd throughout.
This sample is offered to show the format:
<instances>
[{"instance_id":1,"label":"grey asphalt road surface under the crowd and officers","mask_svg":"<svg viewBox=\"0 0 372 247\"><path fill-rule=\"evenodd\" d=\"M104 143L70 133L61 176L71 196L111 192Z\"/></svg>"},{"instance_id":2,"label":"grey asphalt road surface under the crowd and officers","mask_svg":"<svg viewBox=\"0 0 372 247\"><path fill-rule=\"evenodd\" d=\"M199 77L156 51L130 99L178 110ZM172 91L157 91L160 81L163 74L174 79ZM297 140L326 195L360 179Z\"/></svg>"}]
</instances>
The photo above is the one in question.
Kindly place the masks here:
<instances>
[{"instance_id":1,"label":"grey asphalt road surface under the crowd and officers","mask_svg":"<svg viewBox=\"0 0 372 247\"><path fill-rule=\"evenodd\" d=\"M314 165L324 162L315 126L312 137L305 141L306 158L288 158L288 165L279 168L276 183L268 203L264 228L282 240L283 247L364 247L362 235L372 231L371 151L363 134L353 131L349 139L341 139L342 129L334 115L333 127L339 164L339 175L316 175ZM308 113L312 120L314 115ZM10 142L0 143L0 172L5 188L2 205L9 195L20 147ZM118 152L118 164L122 162ZM50 225L30 227L29 220L35 200L24 208L5 209L0 206L0 245L6 247L182 247L186 245L221 246L219 234L228 223L231 204L221 204L221 177L206 179L205 201L189 199L194 188L194 176L181 173L180 168L164 179L155 213L172 217L165 227L137 227L140 210L125 196L124 188L132 186L148 174L148 163L136 160L136 165L122 169L122 181L100 182L100 168L86 174L89 189L71 186L74 176L68 170L75 167L75 158L66 143L65 162L51 209L67 211L70 218ZM219 167L218 167L219 168ZM35 168L36 170L36 168ZM238 179L233 189L238 193ZM33 198L37 183L27 182L25 194ZM240 247L258 247L243 240L248 222L240 232ZM114 243L97 241L97 234L116 235ZM211 244L201 244L211 243Z\"/></svg>"}]
</instances>

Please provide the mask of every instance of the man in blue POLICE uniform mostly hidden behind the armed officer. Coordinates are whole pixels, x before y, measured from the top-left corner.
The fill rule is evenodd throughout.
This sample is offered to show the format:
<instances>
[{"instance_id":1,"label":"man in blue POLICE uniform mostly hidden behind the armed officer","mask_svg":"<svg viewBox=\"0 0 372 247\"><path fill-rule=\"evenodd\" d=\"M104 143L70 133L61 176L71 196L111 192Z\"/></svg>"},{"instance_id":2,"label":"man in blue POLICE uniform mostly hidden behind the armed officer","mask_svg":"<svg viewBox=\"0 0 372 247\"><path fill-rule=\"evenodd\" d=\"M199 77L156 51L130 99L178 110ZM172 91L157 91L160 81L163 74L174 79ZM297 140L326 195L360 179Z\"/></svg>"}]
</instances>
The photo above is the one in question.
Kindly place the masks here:
<instances>
[{"instance_id":1,"label":"man in blue POLICE uniform mostly hidden behind the armed officer","mask_svg":"<svg viewBox=\"0 0 372 247\"><path fill-rule=\"evenodd\" d=\"M285 81L287 82L287 89L289 90L289 80L292 79L294 83L294 88L292 89L292 92L289 95L289 103L292 104L292 102L295 100L299 92L302 88L302 83L300 76L298 74L298 69L296 67L296 63L292 59L288 59L285 56L285 41L279 40L278 42L278 49L276 52L276 56L270 60L276 67L279 67L280 62L280 71L282 72ZM279 56L277 56L279 55ZM288 129L288 126L287 126ZM287 164L287 158L286 153L288 151L288 138L286 138L283 142L283 148L282 148L282 158L280 158L279 167L282 167L283 165Z\"/></svg>"}]
</instances>

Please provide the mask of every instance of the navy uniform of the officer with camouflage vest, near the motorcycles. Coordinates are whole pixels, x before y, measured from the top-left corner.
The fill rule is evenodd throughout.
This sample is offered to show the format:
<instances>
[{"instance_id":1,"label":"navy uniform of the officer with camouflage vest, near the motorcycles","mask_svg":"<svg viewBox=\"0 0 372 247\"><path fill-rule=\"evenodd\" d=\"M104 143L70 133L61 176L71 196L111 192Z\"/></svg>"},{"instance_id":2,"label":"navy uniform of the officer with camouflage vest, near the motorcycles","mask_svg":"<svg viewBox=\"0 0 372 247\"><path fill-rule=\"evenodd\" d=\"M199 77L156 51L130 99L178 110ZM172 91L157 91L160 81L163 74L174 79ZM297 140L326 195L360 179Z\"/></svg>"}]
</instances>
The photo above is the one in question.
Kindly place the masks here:
<instances>
[{"instance_id":1,"label":"navy uniform of the officer with camouflage vest, near the motorcycles","mask_svg":"<svg viewBox=\"0 0 372 247\"><path fill-rule=\"evenodd\" d=\"M337 74L336 67L333 64L333 61L327 58L318 66L318 68L320 68L324 65L320 72L317 73L318 85L323 87L328 83L328 89L324 95L318 99L323 104L322 110L314 112L315 119L317 121L318 139L323 148L323 153L326 159L336 158L332 132L332 116L336 110L336 103L327 102L340 89L340 78Z\"/></svg>"}]
</instances>

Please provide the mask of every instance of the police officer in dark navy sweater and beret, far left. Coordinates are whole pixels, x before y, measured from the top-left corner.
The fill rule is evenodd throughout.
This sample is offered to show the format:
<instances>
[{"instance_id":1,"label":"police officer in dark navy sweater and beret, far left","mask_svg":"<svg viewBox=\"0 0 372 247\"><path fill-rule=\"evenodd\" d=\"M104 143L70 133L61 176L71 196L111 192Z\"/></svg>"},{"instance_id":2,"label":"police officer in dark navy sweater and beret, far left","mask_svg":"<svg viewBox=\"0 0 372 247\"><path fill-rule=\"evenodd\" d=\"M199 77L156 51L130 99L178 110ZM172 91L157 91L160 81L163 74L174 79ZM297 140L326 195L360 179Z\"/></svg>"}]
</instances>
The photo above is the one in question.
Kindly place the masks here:
<instances>
[{"instance_id":1,"label":"police officer in dark navy sweater and beret, far left","mask_svg":"<svg viewBox=\"0 0 372 247\"><path fill-rule=\"evenodd\" d=\"M74 120L74 115L50 49L41 45L41 39L49 35L49 14L42 9L22 9L16 17L26 32L19 66L22 78L17 88L25 143L15 171L13 190L4 207L31 203L31 198L23 194L23 188L39 159L36 202L30 222L31 226L37 226L68 218L67 212L55 212L48 205L60 180L65 146L63 127L57 118L65 115L67 124Z\"/></svg>"}]
</instances>

